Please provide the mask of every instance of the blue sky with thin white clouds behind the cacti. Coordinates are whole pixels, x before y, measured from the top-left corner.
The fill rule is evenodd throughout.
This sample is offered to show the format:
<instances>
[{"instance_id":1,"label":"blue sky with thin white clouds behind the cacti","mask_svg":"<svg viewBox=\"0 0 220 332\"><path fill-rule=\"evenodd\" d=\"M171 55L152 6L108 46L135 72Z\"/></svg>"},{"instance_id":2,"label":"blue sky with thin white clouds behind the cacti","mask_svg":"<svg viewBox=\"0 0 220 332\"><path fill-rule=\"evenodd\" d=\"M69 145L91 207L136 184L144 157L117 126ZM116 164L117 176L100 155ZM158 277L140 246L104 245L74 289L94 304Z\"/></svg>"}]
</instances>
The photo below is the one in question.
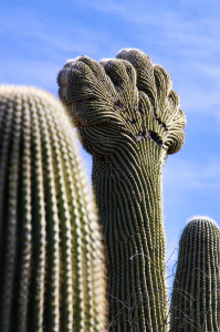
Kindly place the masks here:
<instances>
[{"instance_id":1,"label":"blue sky with thin white clouds behind the cacti","mask_svg":"<svg viewBox=\"0 0 220 332\"><path fill-rule=\"evenodd\" d=\"M164 167L168 257L188 218L208 215L220 225L219 18L219 0L0 4L0 83L35 85L57 95L56 75L67 59L115 58L123 48L143 50L169 72L187 126L182 151ZM91 174L91 158L83 157Z\"/></svg>"}]
</instances>

